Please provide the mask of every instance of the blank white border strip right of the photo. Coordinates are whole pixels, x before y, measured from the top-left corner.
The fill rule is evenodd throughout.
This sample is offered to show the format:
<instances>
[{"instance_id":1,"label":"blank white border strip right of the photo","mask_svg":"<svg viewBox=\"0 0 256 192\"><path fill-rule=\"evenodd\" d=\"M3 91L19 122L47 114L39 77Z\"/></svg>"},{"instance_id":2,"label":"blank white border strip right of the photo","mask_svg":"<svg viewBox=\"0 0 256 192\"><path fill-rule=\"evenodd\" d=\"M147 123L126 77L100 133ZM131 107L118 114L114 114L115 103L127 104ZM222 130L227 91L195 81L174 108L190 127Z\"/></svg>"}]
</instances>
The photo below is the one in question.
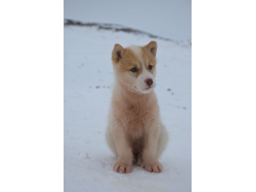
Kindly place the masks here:
<instances>
[{"instance_id":1,"label":"blank white border strip right of the photo","mask_svg":"<svg viewBox=\"0 0 256 192\"><path fill-rule=\"evenodd\" d=\"M255 1L192 3L192 191L256 191Z\"/></svg>"}]
</instances>

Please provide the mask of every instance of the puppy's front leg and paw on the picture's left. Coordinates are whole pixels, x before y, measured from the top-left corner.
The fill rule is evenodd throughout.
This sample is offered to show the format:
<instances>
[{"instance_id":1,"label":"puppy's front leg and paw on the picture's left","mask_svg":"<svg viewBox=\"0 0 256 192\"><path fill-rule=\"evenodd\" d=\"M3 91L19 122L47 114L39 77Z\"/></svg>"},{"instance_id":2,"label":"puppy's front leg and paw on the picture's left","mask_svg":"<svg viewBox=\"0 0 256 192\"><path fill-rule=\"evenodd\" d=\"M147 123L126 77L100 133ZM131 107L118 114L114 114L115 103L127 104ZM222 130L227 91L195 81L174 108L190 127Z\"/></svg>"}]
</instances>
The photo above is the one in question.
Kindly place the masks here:
<instances>
[{"instance_id":1,"label":"puppy's front leg and paw on the picture's left","mask_svg":"<svg viewBox=\"0 0 256 192\"><path fill-rule=\"evenodd\" d=\"M129 173L131 172L133 153L127 141L125 129L123 127L116 127L113 130L113 137L115 140L115 148L118 152L118 161L114 164L113 169L119 173Z\"/></svg>"}]
</instances>

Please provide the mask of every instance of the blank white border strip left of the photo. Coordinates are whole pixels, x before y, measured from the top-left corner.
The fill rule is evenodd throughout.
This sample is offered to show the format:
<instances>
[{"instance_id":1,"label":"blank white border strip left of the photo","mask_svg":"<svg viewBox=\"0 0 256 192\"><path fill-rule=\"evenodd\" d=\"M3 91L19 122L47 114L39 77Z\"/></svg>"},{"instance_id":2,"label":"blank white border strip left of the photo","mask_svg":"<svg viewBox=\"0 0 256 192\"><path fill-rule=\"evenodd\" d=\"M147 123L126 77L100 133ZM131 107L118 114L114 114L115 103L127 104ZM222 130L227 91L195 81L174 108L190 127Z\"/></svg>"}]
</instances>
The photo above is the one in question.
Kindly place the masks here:
<instances>
[{"instance_id":1,"label":"blank white border strip left of the photo","mask_svg":"<svg viewBox=\"0 0 256 192\"><path fill-rule=\"evenodd\" d=\"M63 191L63 1L1 1L0 18L0 191Z\"/></svg>"}]
</instances>

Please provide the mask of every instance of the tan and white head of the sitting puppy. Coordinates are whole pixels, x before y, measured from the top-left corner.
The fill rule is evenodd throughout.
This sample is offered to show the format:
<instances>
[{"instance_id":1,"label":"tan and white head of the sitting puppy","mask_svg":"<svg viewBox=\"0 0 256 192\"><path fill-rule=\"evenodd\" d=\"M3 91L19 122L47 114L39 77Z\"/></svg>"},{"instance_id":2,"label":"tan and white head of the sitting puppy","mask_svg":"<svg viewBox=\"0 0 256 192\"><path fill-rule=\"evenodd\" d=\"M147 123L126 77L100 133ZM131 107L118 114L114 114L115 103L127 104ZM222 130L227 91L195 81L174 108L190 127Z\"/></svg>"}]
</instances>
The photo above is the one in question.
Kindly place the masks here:
<instances>
[{"instance_id":1,"label":"tan and white head of the sitting puppy","mask_svg":"<svg viewBox=\"0 0 256 192\"><path fill-rule=\"evenodd\" d=\"M156 87L156 50L156 41L127 48L115 44L112 61L117 80L131 92L151 92Z\"/></svg>"}]
</instances>

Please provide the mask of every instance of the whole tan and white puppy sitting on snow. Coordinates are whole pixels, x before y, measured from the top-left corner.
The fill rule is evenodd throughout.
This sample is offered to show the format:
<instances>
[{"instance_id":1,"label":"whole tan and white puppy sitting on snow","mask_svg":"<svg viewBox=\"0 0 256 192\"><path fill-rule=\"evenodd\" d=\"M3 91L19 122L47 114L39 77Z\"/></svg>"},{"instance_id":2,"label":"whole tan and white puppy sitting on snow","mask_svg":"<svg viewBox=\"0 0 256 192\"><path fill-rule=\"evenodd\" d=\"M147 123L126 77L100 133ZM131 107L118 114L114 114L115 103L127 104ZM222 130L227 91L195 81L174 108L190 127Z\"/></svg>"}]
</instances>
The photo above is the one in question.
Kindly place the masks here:
<instances>
[{"instance_id":1,"label":"whole tan and white puppy sitting on snow","mask_svg":"<svg viewBox=\"0 0 256 192\"><path fill-rule=\"evenodd\" d=\"M168 133L161 123L156 86L156 41L146 46L123 48L115 44L112 62L115 87L106 140L118 157L114 171L131 172L133 162L148 172L159 173L158 158L166 147Z\"/></svg>"}]
</instances>

